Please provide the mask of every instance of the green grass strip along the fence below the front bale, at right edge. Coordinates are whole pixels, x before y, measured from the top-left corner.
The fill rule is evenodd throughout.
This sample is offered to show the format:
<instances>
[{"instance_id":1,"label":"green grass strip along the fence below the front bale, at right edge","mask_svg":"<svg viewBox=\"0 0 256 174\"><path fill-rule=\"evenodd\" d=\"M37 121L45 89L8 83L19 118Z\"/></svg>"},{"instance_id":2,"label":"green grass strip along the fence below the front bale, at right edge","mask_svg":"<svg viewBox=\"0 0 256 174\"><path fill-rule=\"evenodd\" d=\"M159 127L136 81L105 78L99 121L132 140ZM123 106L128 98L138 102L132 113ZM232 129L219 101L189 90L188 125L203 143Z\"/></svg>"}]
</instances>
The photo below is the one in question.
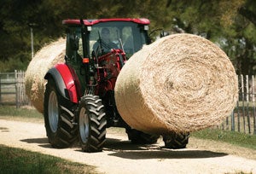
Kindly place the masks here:
<instances>
[{"instance_id":1,"label":"green grass strip along the fence below the front bale, at right edge","mask_svg":"<svg viewBox=\"0 0 256 174\"><path fill-rule=\"evenodd\" d=\"M211 139L218 142L228 142L236 146L252 148L256 150L256 135L249 135L236 131L206 129L203 131L195 131L191 134L191 136L195 136L201 139Z\"/></svg>"}]
</instances>

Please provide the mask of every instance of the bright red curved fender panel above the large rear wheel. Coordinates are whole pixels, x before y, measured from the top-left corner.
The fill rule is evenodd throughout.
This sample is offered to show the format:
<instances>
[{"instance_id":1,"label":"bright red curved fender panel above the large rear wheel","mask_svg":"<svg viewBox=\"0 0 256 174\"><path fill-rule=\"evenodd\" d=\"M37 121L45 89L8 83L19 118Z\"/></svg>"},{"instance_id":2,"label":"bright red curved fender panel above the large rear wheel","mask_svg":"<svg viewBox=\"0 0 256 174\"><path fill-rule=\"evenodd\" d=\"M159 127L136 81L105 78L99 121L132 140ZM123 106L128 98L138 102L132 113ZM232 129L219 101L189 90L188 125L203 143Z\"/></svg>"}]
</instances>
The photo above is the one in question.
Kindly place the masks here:
<instances>
[{"instance_id":1,"label":"bright red curved fender panel above the large rear wheel","mask_svg":"<svg viewBox=\"0 0 256 174\"><path fill-rule=\"evenodd\" d=\"M76 84L74 79L77 77L73 77L74 73L72 70L67 66L67 64L56 64L55 68L61 73L61 77L66 85L66 89L70 98L71 102L78 103L78 93L76 89Z\"/></svg>"}]
</instances>

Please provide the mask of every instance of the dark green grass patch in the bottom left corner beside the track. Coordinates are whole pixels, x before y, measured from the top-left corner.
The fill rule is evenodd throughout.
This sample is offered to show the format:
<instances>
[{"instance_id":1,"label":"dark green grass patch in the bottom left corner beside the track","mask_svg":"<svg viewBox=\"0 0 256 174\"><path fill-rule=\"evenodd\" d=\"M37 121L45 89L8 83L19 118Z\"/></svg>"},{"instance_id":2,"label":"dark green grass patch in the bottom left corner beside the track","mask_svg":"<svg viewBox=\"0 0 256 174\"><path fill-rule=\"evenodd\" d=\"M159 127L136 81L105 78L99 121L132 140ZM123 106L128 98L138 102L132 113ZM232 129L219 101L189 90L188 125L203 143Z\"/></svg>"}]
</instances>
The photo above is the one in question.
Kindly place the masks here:
<instances>
[{"instance_id":1,"label":"dark green grass patch in the bottom left corner beside the track","mask_svg":"<svg viewBox=\"0 0 256 174\"><path fill-rule=\"evenodd\" d=\"M95 167L0 145L0 173L96 173Z\"/></svg>"}]
</instances>

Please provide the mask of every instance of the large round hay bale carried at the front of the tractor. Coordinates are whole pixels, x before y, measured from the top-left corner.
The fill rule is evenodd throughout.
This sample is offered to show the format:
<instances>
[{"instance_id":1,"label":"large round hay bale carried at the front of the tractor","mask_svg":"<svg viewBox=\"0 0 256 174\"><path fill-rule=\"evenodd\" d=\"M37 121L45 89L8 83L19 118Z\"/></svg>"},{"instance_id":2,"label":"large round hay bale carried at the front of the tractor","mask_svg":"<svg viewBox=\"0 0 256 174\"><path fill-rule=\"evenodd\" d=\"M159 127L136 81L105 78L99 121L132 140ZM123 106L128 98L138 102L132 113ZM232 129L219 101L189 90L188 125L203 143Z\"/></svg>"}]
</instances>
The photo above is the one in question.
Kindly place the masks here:
<instances>
[{"instance_id":1,"label":"large round hay bale carried at the front of the tractor","mask_svg":"<svg viewBox=\"0 0 256 174\"><path fill-rule=\"evenodd\" d=\"M160 38L132 55L114 90L128 125L160 135L218 125L238 96L235 69L224 51L184 33Z\"/></svg>"}]
</instances>

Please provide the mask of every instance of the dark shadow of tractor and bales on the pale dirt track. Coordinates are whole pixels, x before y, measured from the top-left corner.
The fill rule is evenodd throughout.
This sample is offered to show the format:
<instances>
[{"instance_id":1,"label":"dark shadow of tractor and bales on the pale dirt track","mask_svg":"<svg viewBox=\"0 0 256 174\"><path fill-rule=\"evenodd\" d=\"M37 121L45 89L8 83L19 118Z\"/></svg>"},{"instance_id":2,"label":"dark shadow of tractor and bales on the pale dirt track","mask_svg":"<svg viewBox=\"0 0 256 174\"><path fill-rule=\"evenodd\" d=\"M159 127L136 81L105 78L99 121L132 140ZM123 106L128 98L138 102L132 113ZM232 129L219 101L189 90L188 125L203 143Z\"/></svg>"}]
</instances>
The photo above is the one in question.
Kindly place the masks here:
<instances>
[{"instance_id":1,"label":"dark shadow of tractor and bales on the pale dirt track","mask_svg":"<svg viewBox=\"0 0 256 174\"><path fill-rule=\"evenodd\" d=\"M37 143L42 148L52 148L48 138L30 138L20 140L21 142ZM78 145L73 147L79 148ZM74 149L79 151L78 149ZM115 138L107 138L103 151L110 152L110 156L116 156L124 159L203 159L222 157L228 154L217 153L207 150L194 150L189 148L168 149L155 144L132 144L130 141L124 141Z\"/></svg>"}]
</instances>

